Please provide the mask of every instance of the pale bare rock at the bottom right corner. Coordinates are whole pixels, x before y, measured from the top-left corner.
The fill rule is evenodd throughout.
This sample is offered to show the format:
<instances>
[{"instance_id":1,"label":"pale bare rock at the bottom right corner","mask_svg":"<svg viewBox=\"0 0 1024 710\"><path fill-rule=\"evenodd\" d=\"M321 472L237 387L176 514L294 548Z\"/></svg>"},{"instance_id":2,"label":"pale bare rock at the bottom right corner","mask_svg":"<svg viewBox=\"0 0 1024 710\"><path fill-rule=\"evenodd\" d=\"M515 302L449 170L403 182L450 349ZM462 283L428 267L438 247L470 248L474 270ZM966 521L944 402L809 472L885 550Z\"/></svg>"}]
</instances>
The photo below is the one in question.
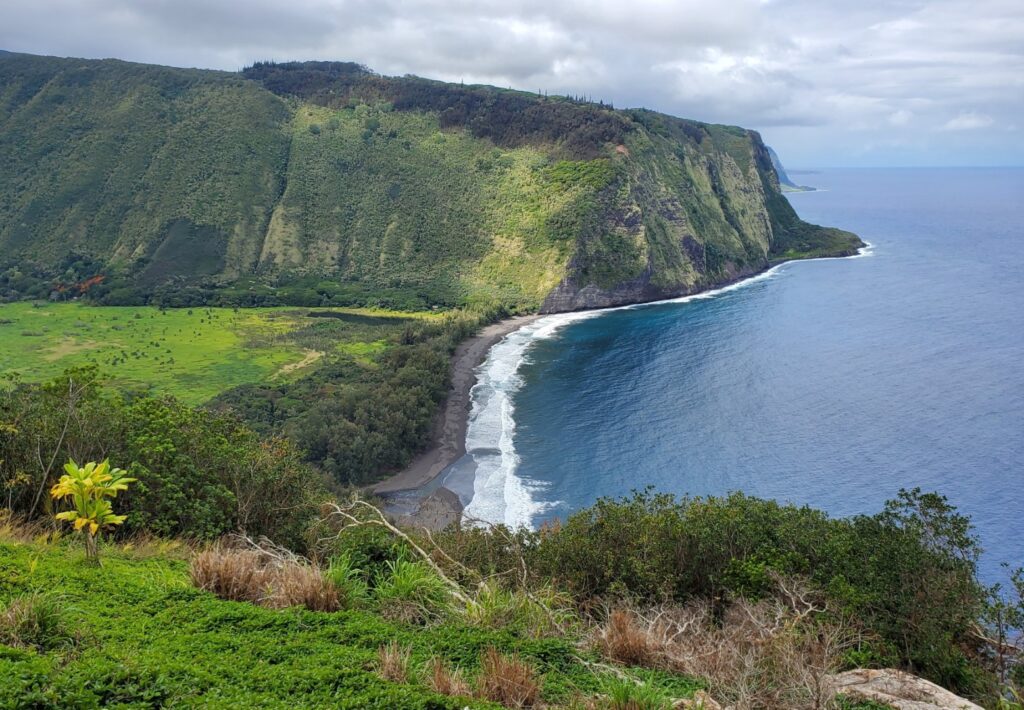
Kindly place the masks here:
<instances>
[{"instance_id":1,"label":"pale bare rock at the bottom right corner","mask_svg":"<svg viewBox=\"0 0 1024 710\"><path fill-rule=\"evenodd\" d=\"M837 695L871 700L897 710L983 710L944 687L903 671L857 669L828 680Z\"/></svg>"}]
</instances>

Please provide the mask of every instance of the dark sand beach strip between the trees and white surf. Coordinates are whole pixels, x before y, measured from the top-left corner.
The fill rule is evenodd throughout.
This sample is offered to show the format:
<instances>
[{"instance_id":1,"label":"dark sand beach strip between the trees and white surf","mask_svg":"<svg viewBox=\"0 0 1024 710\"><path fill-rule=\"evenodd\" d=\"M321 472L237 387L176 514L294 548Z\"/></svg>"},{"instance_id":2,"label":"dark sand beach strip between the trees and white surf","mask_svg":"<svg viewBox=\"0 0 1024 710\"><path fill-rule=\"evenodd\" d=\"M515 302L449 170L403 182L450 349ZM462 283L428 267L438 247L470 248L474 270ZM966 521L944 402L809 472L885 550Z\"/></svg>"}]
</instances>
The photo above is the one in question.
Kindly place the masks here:
<instances>
[{"instance_id":1,"label":"dark sand beach strip between the trees and white surf","mask_svg":"<svg viewBox=\"0 0 1024 710\"><path fill-rule=\"evenodd\" d=\"M409 467L370 490L378 495L422 488L466 454L469 427L469 390L476 384L476 368L487 358L490 346L509 333L532 323L540 316L519 316L486 326L464 340L452 359L452 390L443 409L434 419L430 448L413 459Z\"/></svg>"}]
</instances>

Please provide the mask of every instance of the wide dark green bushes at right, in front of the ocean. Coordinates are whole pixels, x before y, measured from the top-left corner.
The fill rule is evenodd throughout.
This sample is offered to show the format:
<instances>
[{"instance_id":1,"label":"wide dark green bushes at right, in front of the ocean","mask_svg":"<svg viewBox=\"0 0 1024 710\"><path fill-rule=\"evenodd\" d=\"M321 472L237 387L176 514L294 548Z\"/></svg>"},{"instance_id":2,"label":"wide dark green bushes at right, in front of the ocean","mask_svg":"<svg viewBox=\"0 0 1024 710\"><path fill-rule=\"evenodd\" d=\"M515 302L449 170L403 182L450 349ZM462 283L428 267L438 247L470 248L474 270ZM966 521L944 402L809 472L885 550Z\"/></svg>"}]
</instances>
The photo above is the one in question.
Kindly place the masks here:
<instances>
[{"instance_id":1,"label":"wide dark green bushes at right, in front of the ocean","mask_svg":"<svg viewBox=\"0 0 1024 710\"><path fill-rule=\"evenodd\" d=\"M1012 675L993 668L978 632L989 591L970 520L934 494L904 491L878 514L831 518L740 494L641 493L536 533L455 530L437 542L465 568L528 570L523 584L555 584L584 607L701 600L718 618L730 598L776 598L779 578L802 577L827 600L827 617L863 630L846 654L853 665L904 668L979 699Z\"/></svg>"}]
</instances>

